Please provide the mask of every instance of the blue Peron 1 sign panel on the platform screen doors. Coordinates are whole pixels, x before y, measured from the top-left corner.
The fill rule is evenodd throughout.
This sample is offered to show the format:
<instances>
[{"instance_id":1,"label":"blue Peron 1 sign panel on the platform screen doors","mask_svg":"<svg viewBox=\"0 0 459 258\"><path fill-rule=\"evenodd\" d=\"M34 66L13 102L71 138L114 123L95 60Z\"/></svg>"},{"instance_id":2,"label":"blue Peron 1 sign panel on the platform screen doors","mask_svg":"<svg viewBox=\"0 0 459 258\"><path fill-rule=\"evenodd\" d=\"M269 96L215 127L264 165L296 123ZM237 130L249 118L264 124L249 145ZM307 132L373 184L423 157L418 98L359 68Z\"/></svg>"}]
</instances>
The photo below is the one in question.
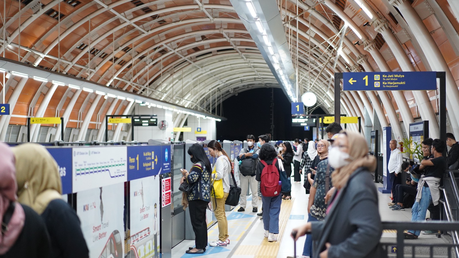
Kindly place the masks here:
<instances>
[{"instance_id":1,"label":"blue Peron 1 sign panel on the platform screen doors","mask_svg":"<svg viewBox=\"0 0 459 258\"><path fill-rule=\"evenodd\" d=\"M157 175L162 170L161 146L128 146L128 180Z\"/></svg>"}]
</instances>

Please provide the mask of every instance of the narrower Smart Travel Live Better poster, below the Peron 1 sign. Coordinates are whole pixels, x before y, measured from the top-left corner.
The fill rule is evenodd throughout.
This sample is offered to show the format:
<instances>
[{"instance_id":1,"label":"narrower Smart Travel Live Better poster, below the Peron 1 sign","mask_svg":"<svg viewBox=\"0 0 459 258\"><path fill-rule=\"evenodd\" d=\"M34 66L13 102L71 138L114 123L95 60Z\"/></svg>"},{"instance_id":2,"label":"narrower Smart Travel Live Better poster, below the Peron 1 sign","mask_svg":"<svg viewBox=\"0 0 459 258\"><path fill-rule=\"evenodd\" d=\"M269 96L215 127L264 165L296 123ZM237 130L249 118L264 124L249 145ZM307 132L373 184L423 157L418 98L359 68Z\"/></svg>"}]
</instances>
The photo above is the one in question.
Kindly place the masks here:
<instances>
[{"instance_id":1,"label":"narrower Smart Travel Live Better poster, below the Peron 1 sign","mask_svg":"<svg viewBox=\"0 0 459 258\"><path fill-rule=\"evenodd\" d=\"M130 184L130 257L159 258L159 176L135 179Z\"/></svg>"}]
</instances>

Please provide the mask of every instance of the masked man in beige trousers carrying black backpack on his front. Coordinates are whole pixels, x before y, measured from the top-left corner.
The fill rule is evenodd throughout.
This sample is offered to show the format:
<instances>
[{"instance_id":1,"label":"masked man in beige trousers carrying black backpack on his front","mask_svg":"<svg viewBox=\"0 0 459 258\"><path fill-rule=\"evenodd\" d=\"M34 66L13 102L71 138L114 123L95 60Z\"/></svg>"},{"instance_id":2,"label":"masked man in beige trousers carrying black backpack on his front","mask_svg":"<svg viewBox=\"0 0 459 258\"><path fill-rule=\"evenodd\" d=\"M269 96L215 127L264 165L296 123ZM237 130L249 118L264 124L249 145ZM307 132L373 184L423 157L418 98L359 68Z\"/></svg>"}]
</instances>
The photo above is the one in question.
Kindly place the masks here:
<instances>
[{"instance_id":1,"label":"masked man in beige trousers carrying black backpack on his front","mask_svg":"<svg viewBox=\"0 0 459 258\"><path fill-rule=\"evenodd\" d=\"M255 173L260 149L255 147L255 136L247 135L246 138L248 147L241 149L239 156L237 156L237 160L240 162L239 172L241 174L241 208L237 211L243 212L246 210L247 191L250 186L250 191L252 192L252 212L258 212L258 183L255 179Z\"/></svg>"}]
</instances>

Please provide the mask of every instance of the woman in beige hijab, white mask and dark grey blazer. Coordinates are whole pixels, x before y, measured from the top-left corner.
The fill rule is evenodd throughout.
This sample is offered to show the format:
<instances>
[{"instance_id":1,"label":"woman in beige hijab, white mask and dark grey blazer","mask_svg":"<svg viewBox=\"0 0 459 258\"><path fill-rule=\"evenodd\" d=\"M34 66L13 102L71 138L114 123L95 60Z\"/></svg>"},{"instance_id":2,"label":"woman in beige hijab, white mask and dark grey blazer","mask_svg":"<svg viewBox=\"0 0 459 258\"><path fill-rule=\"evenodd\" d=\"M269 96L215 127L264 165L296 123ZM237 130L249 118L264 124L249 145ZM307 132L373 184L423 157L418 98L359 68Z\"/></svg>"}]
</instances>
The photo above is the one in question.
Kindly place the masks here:
<instances>
[{"instance_id":1,"label":"woman in beige hijab, white mask and dark grey blazer","mask_svg":"<svg viewBox=\"0 0 459 258\"><path fill-rule=\"evenodd\" d=\"M320 144L320 142L319 142ZM363 136L342 132L330 149L331 175L336 192L324 221L313 221L292 231L295 241L312 234L314 258L378 258L382 226L378 212L378 193L370 171L375 158L368 156Z\"/></svg>"}]
</instances>

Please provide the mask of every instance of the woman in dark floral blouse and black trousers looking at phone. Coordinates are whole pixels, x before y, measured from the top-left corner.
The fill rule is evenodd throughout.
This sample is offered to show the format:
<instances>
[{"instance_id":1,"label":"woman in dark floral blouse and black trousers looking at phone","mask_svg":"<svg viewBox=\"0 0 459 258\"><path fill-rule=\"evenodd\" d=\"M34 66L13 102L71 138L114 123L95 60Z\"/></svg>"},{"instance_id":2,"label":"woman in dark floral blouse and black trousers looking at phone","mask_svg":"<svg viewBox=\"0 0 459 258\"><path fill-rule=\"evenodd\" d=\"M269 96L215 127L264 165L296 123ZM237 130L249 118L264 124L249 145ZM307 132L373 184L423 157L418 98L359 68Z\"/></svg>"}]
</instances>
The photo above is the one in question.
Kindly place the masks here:
<instances>
[{"instance_id":1,"label":"woman in dark floral blouse and black trousers looking at phone","mask_svg":"<svg viewBox=\"0 0 459 258\"><path fill-rule=\"evenodd\" d=\"M188 195L188 207L190 208L190 219L193 231L195 232L196 247L190 247L186 253L204 253L207 247L207 223L206 208L210 202L210 174L212 167L207 158L204 148L195 143L188 149L188 155L193 163L190 172L182 169L183 177L180 184L185 180L188 184L193 184L192 190Z\"/></svg>"}]
</instances>

